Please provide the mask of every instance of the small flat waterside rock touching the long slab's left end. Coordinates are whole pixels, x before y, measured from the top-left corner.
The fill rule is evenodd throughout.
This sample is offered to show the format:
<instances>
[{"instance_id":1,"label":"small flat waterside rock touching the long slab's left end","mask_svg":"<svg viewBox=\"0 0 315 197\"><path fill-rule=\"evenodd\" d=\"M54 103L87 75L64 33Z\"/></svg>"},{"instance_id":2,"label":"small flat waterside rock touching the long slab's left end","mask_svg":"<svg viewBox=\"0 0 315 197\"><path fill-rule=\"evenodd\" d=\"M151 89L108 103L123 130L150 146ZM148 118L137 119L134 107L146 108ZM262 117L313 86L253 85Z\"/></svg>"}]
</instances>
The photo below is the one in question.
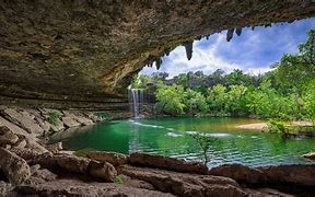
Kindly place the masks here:
<instances>
[{"instance_id":1,"label":"small flat waterside rock touching the long slab's left end","mask_svg":"<svg viewBox=\"0 0 315 197\"><path fill-rule=\"evenodd\" d=\"M128 163L128 157L117 152L90 151L86 157L101 162L109 162L114 166Z\"/></svg>"}]
</instances>

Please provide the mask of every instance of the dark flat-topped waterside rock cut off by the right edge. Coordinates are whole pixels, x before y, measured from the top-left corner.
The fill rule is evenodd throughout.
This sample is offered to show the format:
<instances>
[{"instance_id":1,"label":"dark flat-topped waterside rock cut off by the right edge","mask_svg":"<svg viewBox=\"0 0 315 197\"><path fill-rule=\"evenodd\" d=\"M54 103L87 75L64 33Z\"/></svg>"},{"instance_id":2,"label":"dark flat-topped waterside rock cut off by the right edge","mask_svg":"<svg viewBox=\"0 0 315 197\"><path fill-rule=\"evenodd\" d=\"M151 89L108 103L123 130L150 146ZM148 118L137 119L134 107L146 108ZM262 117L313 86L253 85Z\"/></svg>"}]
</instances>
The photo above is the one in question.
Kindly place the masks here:
<instances>
[{"instance_id":1,"label":"dark flat-topped waterside rock cut off by the right edge","mask_svg":"<svg viewBox=\"0 0 315 197\"><path fill-rule=\"evenodd\" d=\"M315 186L315 165L279 165L258 167L269 183Z\"/></svg>"}]
</instances>

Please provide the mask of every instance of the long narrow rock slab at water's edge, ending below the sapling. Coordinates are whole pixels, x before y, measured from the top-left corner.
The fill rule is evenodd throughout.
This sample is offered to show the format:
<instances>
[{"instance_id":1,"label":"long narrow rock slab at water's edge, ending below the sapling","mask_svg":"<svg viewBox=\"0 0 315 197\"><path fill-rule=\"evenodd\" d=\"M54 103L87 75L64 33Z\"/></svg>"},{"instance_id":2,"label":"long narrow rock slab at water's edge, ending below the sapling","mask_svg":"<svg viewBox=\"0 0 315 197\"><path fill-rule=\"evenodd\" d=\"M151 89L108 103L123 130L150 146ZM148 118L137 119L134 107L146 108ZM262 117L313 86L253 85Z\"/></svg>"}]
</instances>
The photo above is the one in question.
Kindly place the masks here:
<instances>
[{"instance_id":1,"label":"long narrow rock slab at water's edge, ending below the sapling","mask_svg":"<svg viewBox=\"0 0 315 197\"><path fill-rule=\"evenodd\" d=\"M162 155L150 155L145 153L132 153L129 157L129 163L156 169L165 169L177 172L207 174L208 167L198 162L185 162L174 158Z\"/></svg>"}]
</instances>

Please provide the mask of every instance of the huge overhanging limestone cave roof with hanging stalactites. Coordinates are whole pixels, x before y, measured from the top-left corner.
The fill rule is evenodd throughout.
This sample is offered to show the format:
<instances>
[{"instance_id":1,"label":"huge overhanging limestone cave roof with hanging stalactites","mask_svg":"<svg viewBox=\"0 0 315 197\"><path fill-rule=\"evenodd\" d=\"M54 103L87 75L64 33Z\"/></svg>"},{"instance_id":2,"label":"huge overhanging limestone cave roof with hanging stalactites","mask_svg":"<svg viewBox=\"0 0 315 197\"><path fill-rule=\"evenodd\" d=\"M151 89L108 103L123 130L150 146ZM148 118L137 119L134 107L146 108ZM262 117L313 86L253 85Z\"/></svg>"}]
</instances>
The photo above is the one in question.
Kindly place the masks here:
<instances>
[{"instance_id":1,"label":"huge overhanging limestone cave roof with hanging stalactites","mask_svg":"<svg viewBox=\"0 0 315 197\"><path fill-rule=\"evenodd\" d=\"M174 47L190 58L202 36L314 13L310 0L0 0L0 99L124 108L131 77Z\"/></svg>"}]
</instances>

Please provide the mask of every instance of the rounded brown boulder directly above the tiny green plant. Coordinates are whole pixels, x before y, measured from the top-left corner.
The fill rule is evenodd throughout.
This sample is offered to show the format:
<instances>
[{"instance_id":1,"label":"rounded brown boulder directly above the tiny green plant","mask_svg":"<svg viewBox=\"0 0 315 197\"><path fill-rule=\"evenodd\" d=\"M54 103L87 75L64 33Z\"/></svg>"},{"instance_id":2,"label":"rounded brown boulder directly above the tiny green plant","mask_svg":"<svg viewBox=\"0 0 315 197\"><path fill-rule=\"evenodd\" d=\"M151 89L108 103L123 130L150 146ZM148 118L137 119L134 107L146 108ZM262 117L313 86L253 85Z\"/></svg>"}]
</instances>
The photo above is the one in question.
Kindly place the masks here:
<instances>
[{"instance_id":1,"label":"rounded brown boulder directly above the tiny green plant","mask_svg":"<svg viewBox=\"0 0 315 197\"><path fill-rule=\"evenodd\" d=\"M113 182L117 171L110 163L90 161L89 174L105 182Z\"/></svg>"}]
</instances>

